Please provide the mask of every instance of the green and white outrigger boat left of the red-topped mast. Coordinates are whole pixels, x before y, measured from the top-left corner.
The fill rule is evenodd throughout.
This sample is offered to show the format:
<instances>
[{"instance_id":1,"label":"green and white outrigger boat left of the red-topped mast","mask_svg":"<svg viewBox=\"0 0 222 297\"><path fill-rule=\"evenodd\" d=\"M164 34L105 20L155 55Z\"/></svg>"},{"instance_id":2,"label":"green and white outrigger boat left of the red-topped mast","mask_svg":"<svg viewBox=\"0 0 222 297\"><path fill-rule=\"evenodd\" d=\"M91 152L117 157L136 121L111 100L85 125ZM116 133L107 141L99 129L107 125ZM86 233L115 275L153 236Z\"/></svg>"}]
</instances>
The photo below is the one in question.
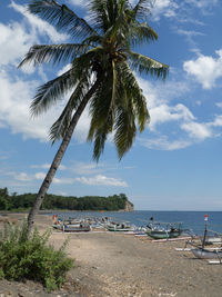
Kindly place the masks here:
<instances>
[{"instance_id":1,"label":"green and white outrigger boat left of the red-topped mast","mask_svg":"<svg viewBox=\"0 0 222 297\"><path fill-rule=\"evenodd\" d=\"M148 224L147 235L154 239L176 238L182 234L181 222L150 222Z\"/></svg>"}]
</instances>

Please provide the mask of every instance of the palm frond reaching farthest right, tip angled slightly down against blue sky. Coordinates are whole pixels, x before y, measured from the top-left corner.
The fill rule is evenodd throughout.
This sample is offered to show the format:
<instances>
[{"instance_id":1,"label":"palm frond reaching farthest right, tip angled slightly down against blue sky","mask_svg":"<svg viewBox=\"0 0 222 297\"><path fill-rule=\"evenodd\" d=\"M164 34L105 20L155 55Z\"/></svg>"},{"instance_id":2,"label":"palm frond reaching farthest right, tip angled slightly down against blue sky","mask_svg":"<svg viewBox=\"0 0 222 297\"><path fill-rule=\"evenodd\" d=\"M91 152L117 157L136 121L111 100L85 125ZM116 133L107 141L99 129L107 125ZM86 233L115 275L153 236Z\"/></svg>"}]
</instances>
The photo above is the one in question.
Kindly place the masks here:
<instances>
[{"instance_id":1,"label":"palm frond reaching farthest right, tip angled slightly down against blue sky","mask_svg":"<svg viewBox=\"0 0 222 297\"><path fill-rule=\"evenodd\" d=\"M165 79L168 76L168 65L161 63L152 58L132 51L128 52L128 58L132 69L139 71L140 73L144 72L147 75L163 79Z\"/></svg>"}]
</instances>

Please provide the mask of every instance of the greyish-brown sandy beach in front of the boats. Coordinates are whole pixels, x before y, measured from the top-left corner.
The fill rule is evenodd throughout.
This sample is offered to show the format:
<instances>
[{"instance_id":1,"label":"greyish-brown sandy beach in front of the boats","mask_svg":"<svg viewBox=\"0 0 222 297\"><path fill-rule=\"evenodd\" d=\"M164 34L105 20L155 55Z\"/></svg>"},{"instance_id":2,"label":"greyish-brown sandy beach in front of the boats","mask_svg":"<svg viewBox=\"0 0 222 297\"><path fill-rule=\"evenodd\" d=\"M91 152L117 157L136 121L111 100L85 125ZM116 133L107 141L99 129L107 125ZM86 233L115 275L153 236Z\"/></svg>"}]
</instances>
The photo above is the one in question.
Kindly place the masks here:
<instances>
[{"instance_id":1,"label":"greyish-brown sandy beach in front of the boats","mask_svg":"<svg viewBox=\"0 0 222 297\"><path fill-rule=\"evenodd\" d=\"M23 215L9 217L20 220ZM37 217L40 231L51 224L51 216ZM67 237L67 253L75 259L75 268L60 290L47 294L33 281L0 280L0 296L222 296L222 265L209 265L190 251L175 251L184 247L182 240L153 242L118 232L52 231L50 242L59 248Z\"/></svg>"}]
</instances>

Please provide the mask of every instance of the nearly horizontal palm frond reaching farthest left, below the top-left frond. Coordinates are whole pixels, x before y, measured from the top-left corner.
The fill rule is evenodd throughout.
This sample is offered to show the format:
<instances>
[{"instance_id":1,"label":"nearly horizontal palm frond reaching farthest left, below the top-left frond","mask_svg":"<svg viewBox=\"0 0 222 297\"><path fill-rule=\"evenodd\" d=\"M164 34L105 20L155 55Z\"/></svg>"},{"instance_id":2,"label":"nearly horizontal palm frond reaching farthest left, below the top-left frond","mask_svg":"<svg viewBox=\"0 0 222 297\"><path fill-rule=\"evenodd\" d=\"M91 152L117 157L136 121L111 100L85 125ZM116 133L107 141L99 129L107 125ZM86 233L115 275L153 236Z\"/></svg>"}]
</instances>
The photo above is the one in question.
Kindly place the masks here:
<instances>
[{"instance_id":1,"label":"nearly horizontal palm frond reaching farthest left, below the top-left frond","mask_svg":"<svg viewBox=\"0 0 222 297\"><path fill-rule=\"evenodd\" d=\"M67 62L73 60L89 49L88 44L82 43L67 43L67 44L41 44L33 46L26 55L24 59L19 65L19 68L26 63L33 62L33 66L40 63L58 65L60 62Z\"/></svg>"}]
</instances>

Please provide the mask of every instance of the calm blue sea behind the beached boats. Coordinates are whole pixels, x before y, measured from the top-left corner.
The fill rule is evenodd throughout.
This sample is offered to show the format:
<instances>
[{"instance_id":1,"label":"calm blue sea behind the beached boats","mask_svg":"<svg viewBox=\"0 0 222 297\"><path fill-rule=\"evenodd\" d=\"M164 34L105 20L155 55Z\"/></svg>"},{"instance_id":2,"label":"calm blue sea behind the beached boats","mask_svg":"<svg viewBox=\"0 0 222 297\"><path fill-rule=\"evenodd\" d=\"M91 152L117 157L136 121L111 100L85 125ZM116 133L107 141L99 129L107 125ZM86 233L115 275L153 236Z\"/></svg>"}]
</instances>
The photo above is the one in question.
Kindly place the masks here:
<instances>
[{"instance_id":1,"label":"calm blue sea behind the beached boats","mask_svg":"<svg viewBox=\"0 0 222 297\"><path fill-rule=\"evenodd\" d=\"M154 211L154 210L134 210L132 212L99 212L99 211L71 211L56 212L57 215L68 217L109 217L118 220L129 221L137 226L145 226L151 217L155 221L176 222L181 221L184 229L192 229L194 234L203 234L205 221L204 215L208 214L209 229L222 234L222 211Z\"/></svg>"}]
</instances>

